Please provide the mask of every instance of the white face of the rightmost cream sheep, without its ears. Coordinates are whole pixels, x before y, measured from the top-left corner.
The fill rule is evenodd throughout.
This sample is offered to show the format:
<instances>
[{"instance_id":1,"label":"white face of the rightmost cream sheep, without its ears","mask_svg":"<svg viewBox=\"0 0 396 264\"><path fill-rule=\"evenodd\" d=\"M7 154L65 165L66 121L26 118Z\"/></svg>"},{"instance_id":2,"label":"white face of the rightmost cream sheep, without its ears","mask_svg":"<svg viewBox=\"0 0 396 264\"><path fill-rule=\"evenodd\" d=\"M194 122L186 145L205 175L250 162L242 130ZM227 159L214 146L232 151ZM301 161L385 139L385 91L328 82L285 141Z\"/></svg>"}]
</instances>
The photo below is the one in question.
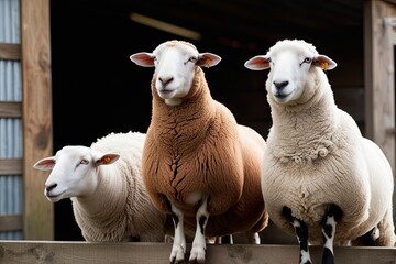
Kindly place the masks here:
<instances>
[{"instance_id":1,"label":"white face of the rightmost cream sheep, without its ears","mask_svg":"<svg viewBox=\"0 0 396 264\"><path fill-rule=\"evenodd\" d=\"M297 100L304 92L314 54L284 51L271 55L272 81L268 92L279 103Z\"/></svg>"}]
</instances>

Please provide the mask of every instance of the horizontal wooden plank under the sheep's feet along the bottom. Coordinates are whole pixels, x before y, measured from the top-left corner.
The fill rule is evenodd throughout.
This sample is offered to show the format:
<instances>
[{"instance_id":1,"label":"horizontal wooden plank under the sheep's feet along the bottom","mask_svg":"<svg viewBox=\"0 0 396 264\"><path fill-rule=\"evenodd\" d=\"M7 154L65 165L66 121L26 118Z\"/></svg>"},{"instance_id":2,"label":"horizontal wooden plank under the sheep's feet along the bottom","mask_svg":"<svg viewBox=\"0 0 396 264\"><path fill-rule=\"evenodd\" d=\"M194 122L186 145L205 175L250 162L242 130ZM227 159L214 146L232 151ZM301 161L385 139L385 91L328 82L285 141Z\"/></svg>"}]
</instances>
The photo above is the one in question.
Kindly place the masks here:
<instances>
[{"instance_id":1,"label":"horizontal wooden plank under the sheep's feet along the bottom","mask_svg":"<svg viewBox=\"0 0 396 264\"><path fill-rule=\"evenodd\" d=\"M168 264L170 250L166 243L0 241L0 263ZM312 262L321 263L322 249L310 246L310 252ZM337 264L388 264L395 263L396 248L336 246L334 255ZM298 263L298 245L210 244L206 264L290 264Z\"/></svg>"}]
</instances>

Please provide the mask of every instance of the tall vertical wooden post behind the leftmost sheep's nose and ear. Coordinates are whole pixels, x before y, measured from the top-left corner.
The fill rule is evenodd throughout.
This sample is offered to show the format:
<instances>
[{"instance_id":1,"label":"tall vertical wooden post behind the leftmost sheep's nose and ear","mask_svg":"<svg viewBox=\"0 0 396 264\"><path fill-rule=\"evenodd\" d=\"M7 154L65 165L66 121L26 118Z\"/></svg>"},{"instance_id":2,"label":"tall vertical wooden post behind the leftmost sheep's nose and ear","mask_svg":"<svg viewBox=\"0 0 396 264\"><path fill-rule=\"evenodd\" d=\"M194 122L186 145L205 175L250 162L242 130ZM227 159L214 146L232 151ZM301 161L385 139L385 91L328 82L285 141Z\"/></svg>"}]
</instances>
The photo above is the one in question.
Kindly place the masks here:
<instances>
[{"instance_id":1,"label":"tall vertical wooden post behind the leftmost sheep's nose and ear","mask_svg":"<svg viewBox=\"0 0 396 264\"><path fill-rule=\"evenodd\" d=\"M53 154L50 0L21 0L23 90L23 234L54 238L54 209L43 199L47 174L33 164Z\"/></svg>"}]
</instances>

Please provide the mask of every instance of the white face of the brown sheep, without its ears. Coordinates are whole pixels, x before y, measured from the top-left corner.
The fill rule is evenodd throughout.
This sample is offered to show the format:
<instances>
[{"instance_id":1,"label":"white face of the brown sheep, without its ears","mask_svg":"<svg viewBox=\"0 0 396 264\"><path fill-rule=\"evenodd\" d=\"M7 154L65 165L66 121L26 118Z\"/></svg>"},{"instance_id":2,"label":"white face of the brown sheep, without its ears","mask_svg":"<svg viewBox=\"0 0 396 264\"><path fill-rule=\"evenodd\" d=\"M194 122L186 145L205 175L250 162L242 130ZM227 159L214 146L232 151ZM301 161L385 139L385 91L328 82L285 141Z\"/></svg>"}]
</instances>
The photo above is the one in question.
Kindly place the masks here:
<instances>
[{"instance_id":1,"label":"white face of the brown sheep, without its ears","mask_svg":"<svg viewBox=\"0 0 396 264\"><path fill-rule=\"evenodd\" d=\"M156 72L155 88L166 105L177 106L182 102L193 84L195 65L199 53L188 45L162 46L154 52Z\"/></svg>"}]
</instances>

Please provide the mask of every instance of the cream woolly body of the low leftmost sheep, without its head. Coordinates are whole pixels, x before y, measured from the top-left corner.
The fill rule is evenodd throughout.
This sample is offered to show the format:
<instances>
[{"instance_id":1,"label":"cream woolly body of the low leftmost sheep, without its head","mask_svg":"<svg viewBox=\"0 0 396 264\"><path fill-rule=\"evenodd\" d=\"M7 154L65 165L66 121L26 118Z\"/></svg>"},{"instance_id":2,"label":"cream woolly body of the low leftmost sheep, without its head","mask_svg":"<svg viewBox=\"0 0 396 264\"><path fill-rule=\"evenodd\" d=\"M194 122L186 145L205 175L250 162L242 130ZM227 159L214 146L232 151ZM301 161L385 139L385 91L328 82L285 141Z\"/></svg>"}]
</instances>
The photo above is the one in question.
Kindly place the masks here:
<instances>
[{"instance_id":1,"label":"cream woolly body of the low leftmost sheep, without its head","mask_svg":"<svg viewBox=\"0 0 396 264\"><path fill-rule=\"evenodd\" d=\"M91 196L72 198L76 221L87 241L124 241L131 237L164 241L166 216L152 205L141 178L144 140L145 134L139 132L111 133L92 143L92 150L117 150L121 157L97 168L98 188Z\"/></svg>"}]
</instances>

